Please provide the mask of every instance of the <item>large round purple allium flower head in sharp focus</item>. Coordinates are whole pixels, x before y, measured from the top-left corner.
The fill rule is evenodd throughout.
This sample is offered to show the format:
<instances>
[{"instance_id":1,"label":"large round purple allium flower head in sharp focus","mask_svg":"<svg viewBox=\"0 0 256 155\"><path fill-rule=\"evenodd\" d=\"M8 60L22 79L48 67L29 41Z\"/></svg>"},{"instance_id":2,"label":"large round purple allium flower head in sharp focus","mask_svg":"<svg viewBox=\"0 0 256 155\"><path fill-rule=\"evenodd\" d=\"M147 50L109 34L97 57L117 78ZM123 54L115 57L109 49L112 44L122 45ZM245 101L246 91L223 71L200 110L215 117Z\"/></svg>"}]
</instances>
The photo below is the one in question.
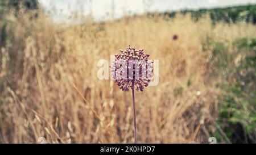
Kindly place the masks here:
<instances>
[{"instance_id":1,"label":"large round purple allium flower head in sharp focus","mask_svg":"<svg viewBox=\"0 0 256 155\"><path fill-rule=\"evenodd\" d=\"M120 89L129 91L136 87L137 91L143 91L149 85L153 77L153 62L148 60L149 56L143 49L130 46L126 50L120 49L120 54L115 55L111 65L114 82Z\"/></svg>"}]
</instances>

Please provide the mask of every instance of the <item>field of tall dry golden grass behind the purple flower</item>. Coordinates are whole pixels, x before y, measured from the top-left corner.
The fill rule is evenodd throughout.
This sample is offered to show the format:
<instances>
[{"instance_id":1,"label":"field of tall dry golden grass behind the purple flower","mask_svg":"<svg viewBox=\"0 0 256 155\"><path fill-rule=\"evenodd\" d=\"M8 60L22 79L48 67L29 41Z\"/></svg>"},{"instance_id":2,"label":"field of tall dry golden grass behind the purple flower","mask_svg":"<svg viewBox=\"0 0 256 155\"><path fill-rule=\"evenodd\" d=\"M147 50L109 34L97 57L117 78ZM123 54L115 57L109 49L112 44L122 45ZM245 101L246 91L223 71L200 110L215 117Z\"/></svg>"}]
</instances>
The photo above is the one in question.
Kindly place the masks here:
<instances>
[{"instance_id":1,"label":"field of tall dry golden grass behind the purple flower","mask_svg":"<svg viewBox=\"0 0 256 155\"><path fill-rule=\"evenodd\" d=\"M232 141L218 122L222 84L234 77L226 78L226 68L239 66L251 51L234 41L255 38L255 25L212 24L209 15L194 22L189 14L68 26L40 11L5 18L0 143L38 143L39 137L47 143L133 143L131 93L97 77L97 62L110 62L128 45L159 60L158 85L135 93L138 143L208 143L216 133L218 143Z\"/></svg>"}]
</instances>

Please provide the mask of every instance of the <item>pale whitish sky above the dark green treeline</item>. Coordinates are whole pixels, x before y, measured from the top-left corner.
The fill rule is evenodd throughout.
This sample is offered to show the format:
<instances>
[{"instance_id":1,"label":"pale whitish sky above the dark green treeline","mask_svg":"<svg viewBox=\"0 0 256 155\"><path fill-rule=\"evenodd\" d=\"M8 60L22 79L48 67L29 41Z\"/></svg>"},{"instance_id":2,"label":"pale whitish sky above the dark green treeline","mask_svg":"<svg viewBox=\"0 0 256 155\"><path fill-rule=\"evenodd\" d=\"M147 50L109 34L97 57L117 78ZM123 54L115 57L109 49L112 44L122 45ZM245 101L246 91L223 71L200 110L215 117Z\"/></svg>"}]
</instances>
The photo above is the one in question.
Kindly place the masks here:
<instances>
[{"instance_id":1,"label":"pale whitish sky above the dark green treeline","mask_svg":"<svg viewBox=\"0 0 256 155\"><path fill-rule=\"evenodd\" d=\"M145 11L200 9L256 4L256 0L38 0L56 21L67 20L73 11L91 14L94 20L121 18Z\"/></svg>"}]
</instances>

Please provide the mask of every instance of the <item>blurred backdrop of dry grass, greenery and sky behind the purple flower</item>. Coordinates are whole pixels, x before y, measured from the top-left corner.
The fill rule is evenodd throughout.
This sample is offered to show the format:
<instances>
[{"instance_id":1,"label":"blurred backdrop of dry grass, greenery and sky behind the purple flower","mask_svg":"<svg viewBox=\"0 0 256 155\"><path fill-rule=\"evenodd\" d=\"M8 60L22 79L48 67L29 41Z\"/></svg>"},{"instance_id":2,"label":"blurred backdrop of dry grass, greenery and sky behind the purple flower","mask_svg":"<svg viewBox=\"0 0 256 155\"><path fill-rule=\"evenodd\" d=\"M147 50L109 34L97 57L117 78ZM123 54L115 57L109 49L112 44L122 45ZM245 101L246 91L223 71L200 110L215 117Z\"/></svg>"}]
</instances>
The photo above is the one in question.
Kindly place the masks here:
<instances>
[{"instance_id":1,"label":"blurred backdrop of dry grass, greenery and sky behind the purple flower","mask_svg":"<svg viewBox=\"0 0 256 155\"><path fill-rule=\"evenodd\" d=\"M129 45L159 60L138 143L256 143L255 32L253 0L0 0L0 143L134 143L131 92L97 77Z\"/></svg>"}]
</instances>

